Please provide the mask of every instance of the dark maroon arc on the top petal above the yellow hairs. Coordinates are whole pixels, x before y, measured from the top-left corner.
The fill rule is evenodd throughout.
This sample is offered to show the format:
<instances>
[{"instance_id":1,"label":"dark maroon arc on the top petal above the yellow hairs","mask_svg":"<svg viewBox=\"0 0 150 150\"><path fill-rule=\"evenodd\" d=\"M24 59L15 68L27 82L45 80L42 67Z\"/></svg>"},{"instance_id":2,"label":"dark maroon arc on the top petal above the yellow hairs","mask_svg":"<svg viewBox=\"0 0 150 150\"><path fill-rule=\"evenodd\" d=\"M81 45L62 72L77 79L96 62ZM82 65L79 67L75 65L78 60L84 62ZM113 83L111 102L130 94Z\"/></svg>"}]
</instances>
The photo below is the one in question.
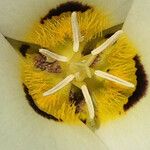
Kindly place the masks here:
<instances>
[{"instance_id":1,"label":"dark maroon arc on the top petal above the yellow hairs","mask_svg":"<svg viewBox=\"0 0 150 150\"><path fill-rule=\"evenodd\" d=\"M90 6L83 5L80 2L74 2L74 1L66 2L66 3L60 4L58 7L54 9L51 9L49 13L41 19L40 23L44 24L45 20L51 19L53 16L59 16L60 14L64 12L69 12L69 11L70 12L73 12L73 11L85 12L90 8L91 8Z\"/></svg>"}]
</instances>

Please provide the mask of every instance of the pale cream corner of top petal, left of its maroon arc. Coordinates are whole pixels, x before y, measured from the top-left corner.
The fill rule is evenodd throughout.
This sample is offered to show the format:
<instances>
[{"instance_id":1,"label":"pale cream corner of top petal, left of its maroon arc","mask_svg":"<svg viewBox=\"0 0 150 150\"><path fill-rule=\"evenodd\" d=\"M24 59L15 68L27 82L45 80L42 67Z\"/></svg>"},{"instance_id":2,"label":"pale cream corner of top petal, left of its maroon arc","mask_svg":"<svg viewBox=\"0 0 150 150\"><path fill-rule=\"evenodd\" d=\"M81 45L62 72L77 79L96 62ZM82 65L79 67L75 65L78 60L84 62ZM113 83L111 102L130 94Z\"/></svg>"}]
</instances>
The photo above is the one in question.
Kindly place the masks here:
<instances>
[{"instance_id":1,"label":"pale cream corner of top petal, left of its maroon arc","mask_svg":"<svg viewBox=\"0 0 150 150\"><path fill-rule=\"evenodd\" d=\"M0 1L0 32L23 40L35 22L50 9L65 0L5 0Z\"/></svg>"}]
</instances>

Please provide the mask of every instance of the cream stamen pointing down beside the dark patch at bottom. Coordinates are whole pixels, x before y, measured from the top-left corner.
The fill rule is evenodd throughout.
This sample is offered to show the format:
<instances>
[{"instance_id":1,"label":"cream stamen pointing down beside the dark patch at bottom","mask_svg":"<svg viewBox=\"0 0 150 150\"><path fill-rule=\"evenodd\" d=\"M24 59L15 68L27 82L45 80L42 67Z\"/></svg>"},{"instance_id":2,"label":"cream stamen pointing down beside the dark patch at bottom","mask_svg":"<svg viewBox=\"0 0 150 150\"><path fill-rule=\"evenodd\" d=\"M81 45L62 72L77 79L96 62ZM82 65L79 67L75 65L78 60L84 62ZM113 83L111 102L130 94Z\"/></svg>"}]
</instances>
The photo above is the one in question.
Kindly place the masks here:
<instances>
[{"instance_id":1,"label":"cream stamen pointing down beside the dark patch at bottom","mask_svg":"<svg viewBox=\"0 0 150 150\"><path fill-rule=\"evenodd\" d=\"M82 85L81 86L81 90L82 90L83 96L85 98L85 102L87 104L87 108L88 108L88 111L89 111L90 119L93 120L94 116L95 116L95 111L94 111L93 102L92 102L91 96L89 94L89 91L87 89L87 86L86 85Z\"/></svg>"}]
</instances>

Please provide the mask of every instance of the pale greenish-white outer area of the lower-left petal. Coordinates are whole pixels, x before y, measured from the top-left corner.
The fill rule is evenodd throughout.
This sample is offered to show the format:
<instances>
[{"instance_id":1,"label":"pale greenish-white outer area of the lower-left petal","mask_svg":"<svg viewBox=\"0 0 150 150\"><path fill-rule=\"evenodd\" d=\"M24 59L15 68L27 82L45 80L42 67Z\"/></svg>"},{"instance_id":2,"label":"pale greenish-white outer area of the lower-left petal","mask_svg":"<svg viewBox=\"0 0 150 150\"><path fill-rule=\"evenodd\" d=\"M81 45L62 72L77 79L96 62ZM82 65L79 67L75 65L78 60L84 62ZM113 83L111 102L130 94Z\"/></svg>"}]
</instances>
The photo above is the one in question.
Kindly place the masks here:
<instances>
[{"instance_id":1,"label":"pale greenish-white outer area of the lower-left petal","mask_svg":"<svg viewBox=\"0 0 150 150\"><path fill-rule=\"evenodd\" d=\"M71 126L37 115L25 99L18 56L0 34L0 146L2 150L105 150L84 124Z\"/></svg>"}]
</instances>

